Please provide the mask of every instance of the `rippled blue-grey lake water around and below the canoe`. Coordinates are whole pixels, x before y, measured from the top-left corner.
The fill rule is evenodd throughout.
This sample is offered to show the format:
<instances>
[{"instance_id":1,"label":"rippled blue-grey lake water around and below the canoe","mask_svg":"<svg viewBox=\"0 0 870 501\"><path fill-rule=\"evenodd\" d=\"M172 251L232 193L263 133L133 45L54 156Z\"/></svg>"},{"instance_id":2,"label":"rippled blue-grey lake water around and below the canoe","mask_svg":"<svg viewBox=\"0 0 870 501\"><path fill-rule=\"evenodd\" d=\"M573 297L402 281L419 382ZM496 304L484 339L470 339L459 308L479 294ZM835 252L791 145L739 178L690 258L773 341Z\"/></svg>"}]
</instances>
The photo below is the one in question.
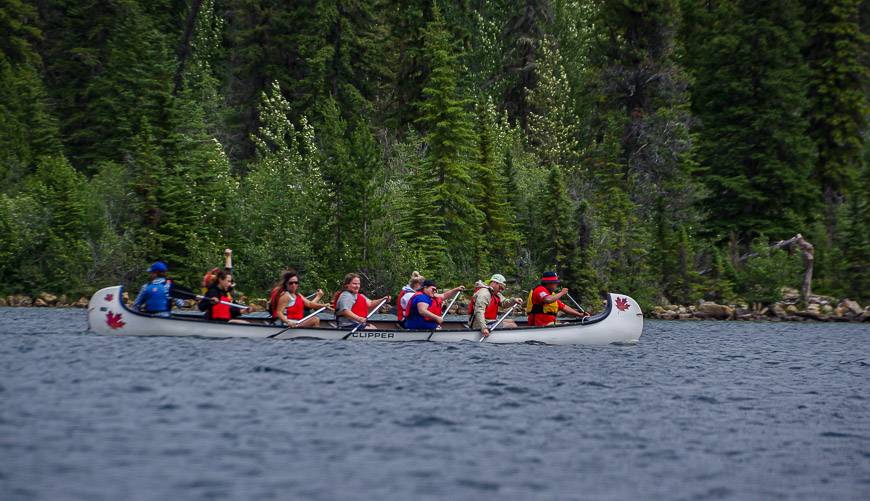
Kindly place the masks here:
<instances>
[{"instance_id":1,"label":"rippled blue-grey lake water around and below the canoe","mask_svg":"<svg viewBox=\"0 0 870 501\"><path fill-rule=\"evenodd\" d=\"M0 499L870 498L870 326L124 338L0 308Z\"/></svg>"}]
</instances>

